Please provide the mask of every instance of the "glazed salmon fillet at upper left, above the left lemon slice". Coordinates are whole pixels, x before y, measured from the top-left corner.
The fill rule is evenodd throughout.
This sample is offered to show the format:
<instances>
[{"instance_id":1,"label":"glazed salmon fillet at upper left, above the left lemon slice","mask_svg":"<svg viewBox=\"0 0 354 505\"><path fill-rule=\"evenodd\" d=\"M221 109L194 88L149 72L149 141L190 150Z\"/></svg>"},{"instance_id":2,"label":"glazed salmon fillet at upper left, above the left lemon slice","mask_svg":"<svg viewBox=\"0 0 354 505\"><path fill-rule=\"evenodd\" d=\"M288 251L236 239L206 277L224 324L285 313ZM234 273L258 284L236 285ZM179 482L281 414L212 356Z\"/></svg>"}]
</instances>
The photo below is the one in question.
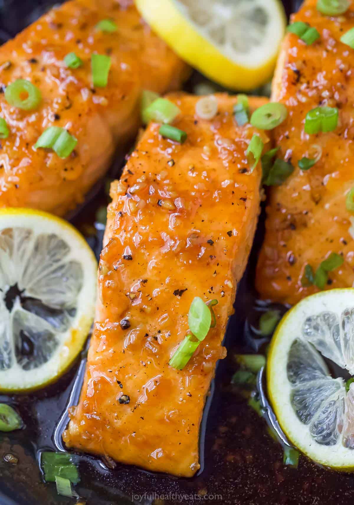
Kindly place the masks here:
<instances>
[{"instance_id":1,"label":"glazed salmon fillet at upper left, above the left lemon slice","mask_svg":"<svg viewBox=\"0 0 354 505\"><path fill-rule=\"evenodd\" d=\"M96 25L109 19L113 33ZM70 69L74 52L83 65ZM106 87L93 87L91 55L111 58ZM0 48L0 116L10 135L1 140L0 207L32 207L65 215L106 172L117 147L139 127L142 89L178 89L188 67L143 22L129 0L74 0L45 14ZM8 104L4 89L27 79L42 94L25 111ZM78 142L66 159L34 149L50 126Z\"/></svg>"}]
</instances>

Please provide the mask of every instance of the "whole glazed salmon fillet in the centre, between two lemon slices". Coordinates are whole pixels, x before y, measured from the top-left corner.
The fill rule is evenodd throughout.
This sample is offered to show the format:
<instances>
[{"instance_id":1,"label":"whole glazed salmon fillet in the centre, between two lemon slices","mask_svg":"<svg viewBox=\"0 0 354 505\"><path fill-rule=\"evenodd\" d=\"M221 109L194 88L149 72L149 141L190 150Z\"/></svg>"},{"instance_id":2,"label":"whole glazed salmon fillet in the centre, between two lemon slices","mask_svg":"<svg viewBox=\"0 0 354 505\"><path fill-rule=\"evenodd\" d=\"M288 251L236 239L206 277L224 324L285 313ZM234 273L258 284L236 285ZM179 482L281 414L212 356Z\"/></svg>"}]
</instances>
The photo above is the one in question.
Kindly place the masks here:
<instances>
[{"instance_id":1,"label":"whole glazed salmon fillet in the centre, between two lemon slices","mask_svg":"<svg viewBox=\"0 0 354 505\"><path fill-rule=\"evenodd\" d=\"M204 402L260 204L260 164L251 173L245 154L256 130L236 125L236 97L215 96L219 112L207 121L198 97L169 95L186 142L151 123L112 183L86 376L64 433L68 447L185 477L199 468ZM216 326L176 370L169 360L195 296L218 300Z\"/></svg>"}]
</instances>

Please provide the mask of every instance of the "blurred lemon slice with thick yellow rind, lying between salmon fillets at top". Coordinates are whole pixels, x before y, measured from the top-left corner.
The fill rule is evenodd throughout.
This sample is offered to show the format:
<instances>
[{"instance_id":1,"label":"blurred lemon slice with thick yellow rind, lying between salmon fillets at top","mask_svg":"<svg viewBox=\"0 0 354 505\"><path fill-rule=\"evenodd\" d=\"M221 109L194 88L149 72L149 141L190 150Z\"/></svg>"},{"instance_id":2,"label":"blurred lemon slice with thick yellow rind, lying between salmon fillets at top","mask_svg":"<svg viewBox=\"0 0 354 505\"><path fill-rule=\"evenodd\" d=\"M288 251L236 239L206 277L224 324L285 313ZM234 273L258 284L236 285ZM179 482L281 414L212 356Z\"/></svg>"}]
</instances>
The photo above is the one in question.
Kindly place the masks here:
<instances>
[{"instance_id":1,"label":"blurred lemon slice with thick yellow rind, lying between salmon fillets at top","mask_svg":"<svg viewBox=\"0 0 354 505\"><path fill-rule=\"evenodd\" d=\"M147 23L181 58L228 88L272 76L286 17L280 0L136 0Z\"/></svg>"}]
</instances>

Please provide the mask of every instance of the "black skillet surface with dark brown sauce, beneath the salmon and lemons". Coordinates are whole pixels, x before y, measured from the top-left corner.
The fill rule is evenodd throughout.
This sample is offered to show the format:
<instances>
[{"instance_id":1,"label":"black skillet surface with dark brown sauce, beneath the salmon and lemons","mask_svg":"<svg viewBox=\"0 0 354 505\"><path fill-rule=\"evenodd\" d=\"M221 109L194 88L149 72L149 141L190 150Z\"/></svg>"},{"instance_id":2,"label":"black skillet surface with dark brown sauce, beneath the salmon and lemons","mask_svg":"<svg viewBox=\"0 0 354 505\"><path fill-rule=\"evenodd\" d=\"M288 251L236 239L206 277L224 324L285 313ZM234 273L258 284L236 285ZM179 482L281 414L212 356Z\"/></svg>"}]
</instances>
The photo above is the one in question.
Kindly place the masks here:
<instances>
[{"instance_id":1,"label":"black skillet surface with dark brown sauce, beneath the salmon and lemons","mask_svg":"<svg viewBox=\"0 0 354 505\"><path fill-rule=\"evenodd\" d=\"M301 3L300 0L283 1L288 14ZM46 0L0 0L0 39L5 41L13 37L52 4ZM187 89L191 89L195 79L200 77L194 76ZM113 172L116 170L117 164ZM102 201L104 196L97 196L94 203L90 201L92 216ZM87 219L89 213L85 214ZM82 227L80 215L76 216L74 223ZM89 238L97 254L100 234L98 231L96 237ZM252 322L257 325L260 312L266 310L256 304L253 290L254 267L262 237L261 219L249 267L239 287L235 314L227 330L228 358L219 363L214 393L208 402L209 412L204 415L201 471L193 479L176 479L120 465L109 469L98 459L78 457L81 482L76 490L87 505L172 505L203 501L234 505L352 503L352 475L329 472L305 457L301 457L298 470L284 467L281 446L269 437L264 421L230 386L235 370L232 354L257 350L264 344L247 331ZM78 360L53 386L29 396L11 398L25 420L26 429L0 434L0 505L69 505L75 502L57 496L55 485L43 483L37 460L41 449L60 448L66 407L68 403L75 403L72 391L75 385L80 385L83 366L84 361ZM78 389L74 387L75 394ZM9 401L9 398L0 396L0 401L4 400ZM61 419L62 423L58 425ZM5 463L3 457L8 452L18 457L17 465Z\"/></svg>"}]
</instances>

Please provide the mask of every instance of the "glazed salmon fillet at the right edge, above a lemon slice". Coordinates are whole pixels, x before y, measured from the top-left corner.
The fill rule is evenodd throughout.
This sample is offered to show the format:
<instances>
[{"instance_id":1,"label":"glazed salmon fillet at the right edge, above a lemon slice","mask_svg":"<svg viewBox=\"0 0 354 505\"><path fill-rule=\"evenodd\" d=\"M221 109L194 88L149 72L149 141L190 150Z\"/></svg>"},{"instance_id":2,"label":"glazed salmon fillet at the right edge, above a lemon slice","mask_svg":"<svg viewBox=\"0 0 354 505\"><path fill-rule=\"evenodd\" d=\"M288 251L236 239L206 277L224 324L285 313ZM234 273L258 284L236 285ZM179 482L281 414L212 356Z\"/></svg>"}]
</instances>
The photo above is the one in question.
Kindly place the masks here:
<instances>
[{"instance_id":1,"label":"glazed salmon fillet at the right edge, above a lemon slice","mask_svg":"<svg viewBox=\"0 0 354 505\"><path fill-rule=\"evenodd\" d=\"M270 190L266 236L256 287L262 297L293 304L319 289L306 286L305 267L314 272L334 252L344 263L329 273L325 289L354 282L353 232L346 194L354 186L354 50L340 37L354 26L354 5L338 18L321 15L316 0L304 2L292 21L316 27L320 38L306 45L296 34L284 39L273 82L272 101L288 117L274 131L278 156L291 160L292 175ZM305 118L319 106L338 108L338 126L329 133L305 133ZM319 161L300 170L303 157Z\"/></svg>"}]
</instances>

